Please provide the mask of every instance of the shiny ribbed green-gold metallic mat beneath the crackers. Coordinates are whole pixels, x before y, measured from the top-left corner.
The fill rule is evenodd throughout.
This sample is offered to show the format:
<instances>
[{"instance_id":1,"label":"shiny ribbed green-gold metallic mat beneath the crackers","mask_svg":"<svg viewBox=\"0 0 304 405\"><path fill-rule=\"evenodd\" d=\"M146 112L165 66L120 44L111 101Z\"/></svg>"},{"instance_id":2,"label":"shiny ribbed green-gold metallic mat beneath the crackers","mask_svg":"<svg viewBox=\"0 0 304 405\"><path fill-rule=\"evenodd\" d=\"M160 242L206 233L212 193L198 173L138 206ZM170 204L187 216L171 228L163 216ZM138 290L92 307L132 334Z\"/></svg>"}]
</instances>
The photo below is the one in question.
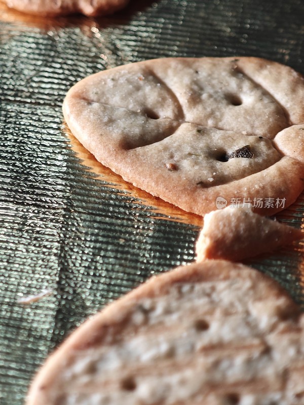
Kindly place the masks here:
<instances>
[{"instance_id":1,"label":"shiny ribbed green-gold metallic mat beneath the crackers","mask_svg":"<svg viewBox=\"0 0 304 405\"><path fill-rule=\"evenodd\" d=\"M168 56L259 56L304 73L302 0L131 0L106 18L0 3L0 404L21 405L63 338L150 275L194 259L202 219L102 167L62 100L102 69ZM300 227L304 198L278 216ZM304 305L303 242L248 261ZM22 296L49 295L30 305Z\"/></svg>"}]
</instances>

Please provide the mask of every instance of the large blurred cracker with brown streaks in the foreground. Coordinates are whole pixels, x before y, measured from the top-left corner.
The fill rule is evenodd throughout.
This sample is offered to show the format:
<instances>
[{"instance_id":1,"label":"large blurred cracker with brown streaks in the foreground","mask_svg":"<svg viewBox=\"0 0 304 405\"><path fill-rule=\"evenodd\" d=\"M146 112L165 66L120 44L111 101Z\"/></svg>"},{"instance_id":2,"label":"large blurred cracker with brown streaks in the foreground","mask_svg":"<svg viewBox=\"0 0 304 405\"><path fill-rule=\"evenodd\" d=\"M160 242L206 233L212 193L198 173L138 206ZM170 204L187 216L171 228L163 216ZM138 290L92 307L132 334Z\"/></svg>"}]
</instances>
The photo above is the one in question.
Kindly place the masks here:
<instances>
[{"instance_id":1,"label":"large blurred cracker with brown streaks in the foreground","mask_svg":"<svg viewBox=\"0 0 304 405\"><path fill-rule=\"evenodd\" d=\"M27 405L300 405L303 316L275 281L243 265L179 267L72 333Z\"/></svg>"}]
</instances>

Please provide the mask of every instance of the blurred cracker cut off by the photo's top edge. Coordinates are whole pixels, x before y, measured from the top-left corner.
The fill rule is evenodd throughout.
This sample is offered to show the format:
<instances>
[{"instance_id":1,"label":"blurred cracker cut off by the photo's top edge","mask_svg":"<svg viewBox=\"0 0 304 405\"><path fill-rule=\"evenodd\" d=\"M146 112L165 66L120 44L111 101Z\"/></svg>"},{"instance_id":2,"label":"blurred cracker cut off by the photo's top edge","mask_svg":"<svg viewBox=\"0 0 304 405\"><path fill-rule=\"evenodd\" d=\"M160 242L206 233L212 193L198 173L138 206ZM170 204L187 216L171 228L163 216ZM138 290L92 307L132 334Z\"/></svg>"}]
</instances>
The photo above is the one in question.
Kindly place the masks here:
<instances>
[{"instance_id":1,"label":"blurred cracker cut off by the photo's top edge","mask_svg":"<svg viewBox=\"0 0 304 405\"><path fill-rule=\"evenodd\" d=\"M8 7L39 16L82 13L87 16L110 14L125 7L129 0L3 0Z\"/></svg>"}]
</instances>

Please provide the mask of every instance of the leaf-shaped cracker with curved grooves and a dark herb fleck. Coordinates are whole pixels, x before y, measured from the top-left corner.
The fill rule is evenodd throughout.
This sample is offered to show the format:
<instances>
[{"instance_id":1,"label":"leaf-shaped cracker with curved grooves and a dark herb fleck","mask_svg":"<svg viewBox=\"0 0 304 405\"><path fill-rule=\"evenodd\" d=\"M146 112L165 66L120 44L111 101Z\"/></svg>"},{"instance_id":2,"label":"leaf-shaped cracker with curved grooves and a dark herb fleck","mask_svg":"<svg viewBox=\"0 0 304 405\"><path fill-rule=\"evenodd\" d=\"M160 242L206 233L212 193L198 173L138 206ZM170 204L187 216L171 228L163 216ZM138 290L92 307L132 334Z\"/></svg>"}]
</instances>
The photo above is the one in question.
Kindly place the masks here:
<instances>
[{"instance_id":1,"label":"leaf-shaped cracker with curved grooves and a dark herb fleck","mask_svg":"<svg viewBox=\"0 0 304 405\"><path fill-rule=\"evenodd\" d=\"M302 159L275 143L304 123L303 100L303 77L275 62L167 58L85 78L63 112L104 166L185 211L204 215L221 197L272 215L304 187Z\"/></svg>"}]
</instances>

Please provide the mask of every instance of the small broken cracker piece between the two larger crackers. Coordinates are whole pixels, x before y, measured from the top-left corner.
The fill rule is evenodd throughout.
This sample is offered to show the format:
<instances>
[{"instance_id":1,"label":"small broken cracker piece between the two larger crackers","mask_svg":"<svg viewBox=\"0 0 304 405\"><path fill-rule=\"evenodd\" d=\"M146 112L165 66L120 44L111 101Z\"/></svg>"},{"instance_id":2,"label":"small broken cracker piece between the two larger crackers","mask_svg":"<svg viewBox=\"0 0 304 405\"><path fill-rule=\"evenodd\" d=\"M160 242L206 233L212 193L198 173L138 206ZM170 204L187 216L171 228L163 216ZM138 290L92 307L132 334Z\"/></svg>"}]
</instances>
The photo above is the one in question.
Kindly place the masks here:
<instances>
[{"instance_id":1,"label":"small broken cracker piece between the two larger crackers","mask_svg":"<svg viewBox=\"0 0 304 405\"><path fill-rule=\"evenodd\" d=\"M197 260L243 260L302 237L300 229L255 214L251 207L226 207L205 215L196 242Z\"/></svg>"}]
</instances>

